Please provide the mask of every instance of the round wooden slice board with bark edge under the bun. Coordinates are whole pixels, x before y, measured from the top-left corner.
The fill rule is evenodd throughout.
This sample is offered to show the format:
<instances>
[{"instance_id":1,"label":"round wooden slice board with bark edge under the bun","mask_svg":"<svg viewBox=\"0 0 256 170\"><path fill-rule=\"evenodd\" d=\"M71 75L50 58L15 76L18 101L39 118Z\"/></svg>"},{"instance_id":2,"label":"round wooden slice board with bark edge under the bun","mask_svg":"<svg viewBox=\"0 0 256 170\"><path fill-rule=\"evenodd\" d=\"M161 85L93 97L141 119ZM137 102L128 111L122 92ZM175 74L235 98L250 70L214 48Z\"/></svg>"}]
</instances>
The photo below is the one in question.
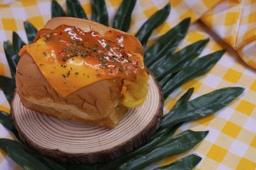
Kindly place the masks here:
<instances>
[{"instance_id":1,"label":"round wooden slice board with bark edge under the bun","mask_svg":"<svg viewBox=\"0 0 256 170\"><path fill-rule=\"evenodd\" d=\"M86 125L61 120L26 109L15 92L12 120L22 141L58 162L109 161L145 143L159 127L163 116L161 87L150 76L149 93L143 106L130 109L115 127Z\"/></svg>"}]
</instances>

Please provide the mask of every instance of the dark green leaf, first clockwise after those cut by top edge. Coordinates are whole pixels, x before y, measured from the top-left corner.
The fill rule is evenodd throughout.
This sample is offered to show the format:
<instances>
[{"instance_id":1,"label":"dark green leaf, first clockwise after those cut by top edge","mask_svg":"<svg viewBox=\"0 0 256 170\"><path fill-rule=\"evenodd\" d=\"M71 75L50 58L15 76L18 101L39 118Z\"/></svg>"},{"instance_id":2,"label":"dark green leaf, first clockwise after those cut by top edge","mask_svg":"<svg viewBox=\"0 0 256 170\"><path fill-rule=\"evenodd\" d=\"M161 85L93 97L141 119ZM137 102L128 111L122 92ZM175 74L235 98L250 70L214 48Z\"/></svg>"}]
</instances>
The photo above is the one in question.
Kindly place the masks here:
<instances>
[{"instance_id":1,"label":"dark green leaf, first clockwise after those cut by top edge","mask_svg":"<svg viewBox=\"0 0 256 170\"><path fill-rule=\"evenodd\" d=\"M168 17L171 10L170 3L166 4L163 9L157 11L140 27L139 31L136 33L136 38L138 38L143 46L147 44L148 38L158 27L163 24L163 22Z\"/></svg>"}]
</instances>

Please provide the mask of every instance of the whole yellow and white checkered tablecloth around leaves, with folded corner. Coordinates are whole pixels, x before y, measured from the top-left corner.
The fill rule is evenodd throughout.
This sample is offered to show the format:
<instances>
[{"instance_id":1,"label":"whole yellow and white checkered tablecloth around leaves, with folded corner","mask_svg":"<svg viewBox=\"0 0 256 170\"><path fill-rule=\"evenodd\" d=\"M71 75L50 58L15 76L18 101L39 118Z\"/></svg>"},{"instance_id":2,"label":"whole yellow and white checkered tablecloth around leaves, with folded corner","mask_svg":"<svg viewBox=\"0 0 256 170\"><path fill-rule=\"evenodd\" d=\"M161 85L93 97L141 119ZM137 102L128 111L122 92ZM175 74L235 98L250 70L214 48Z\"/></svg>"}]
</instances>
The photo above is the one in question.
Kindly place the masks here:
<instances>
[{"instance_id":1,"label":"whole yellow and white checkered tablecloth around leaves, with folded corner","mask_svg":"<svg viewBox=\"0 0 256 170\"><path fill-rule=\"evenodd\" d=\"M4 0L8 3L8 0ZM0 0L0 3L4 1ZM65 8L65 1L58 1ZM120 0L106 0L109 20L113 20ZM132 13L129 32L134 34L152 13L162 8L167 0L138 0ZM172 108L177 99L189 87L195 87L193 98L221 87L240 86L246 90L242 96L218 111L215 115L187 123L180 131L209 130L208 136L189 153L197 153L203 158L196 169L256 169L256 1L255 0L171 0L172 10L166 22L153 32L150 43L168 31L180 20L191 17L193 24L182 46L207 37L211 41L202 55L221 48L227 52L211 69L210 73L200 76L175 90L164 103L164 110ZM83 8L90 18L90 1L82 0ZM16 31L28 43L23 27L29 20L37 29L51 18L51 1L15 1L11 5L0 5L0 74L10 76L4 55L3 41L12 41L12 31ZM110 23L111 24L111 23ZM235 50L234 50L235 49ZM245 64L243 60L247 63ZM10 106L0 91L0 110L10 113ZM12 138L0 125L1 138ZM157 165L170 164L184 155L168 157ZM20 169L15 163L0 153L0 169Z\"/></svg>"}]
</instances>

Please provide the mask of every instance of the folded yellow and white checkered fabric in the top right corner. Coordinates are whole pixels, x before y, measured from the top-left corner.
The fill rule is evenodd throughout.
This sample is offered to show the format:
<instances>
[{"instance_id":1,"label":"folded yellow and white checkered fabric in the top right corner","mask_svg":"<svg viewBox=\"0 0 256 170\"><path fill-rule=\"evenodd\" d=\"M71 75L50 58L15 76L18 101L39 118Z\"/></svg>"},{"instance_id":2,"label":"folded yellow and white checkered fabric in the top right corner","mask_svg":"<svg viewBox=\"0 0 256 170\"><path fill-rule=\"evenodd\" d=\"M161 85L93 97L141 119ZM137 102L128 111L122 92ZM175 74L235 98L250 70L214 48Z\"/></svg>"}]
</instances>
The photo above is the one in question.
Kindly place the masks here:
<instances>
[{"instance_id":1,"label":"folded yellow and white checkered fabric in the top right corner","mask_svg":"<svg viewBox=\"0 0 256 170\"><path fill-rule=\"evenodd\" d=\"M201 20L256 69L256 1L224 0Z\"/></svg>"}]
</instances>

